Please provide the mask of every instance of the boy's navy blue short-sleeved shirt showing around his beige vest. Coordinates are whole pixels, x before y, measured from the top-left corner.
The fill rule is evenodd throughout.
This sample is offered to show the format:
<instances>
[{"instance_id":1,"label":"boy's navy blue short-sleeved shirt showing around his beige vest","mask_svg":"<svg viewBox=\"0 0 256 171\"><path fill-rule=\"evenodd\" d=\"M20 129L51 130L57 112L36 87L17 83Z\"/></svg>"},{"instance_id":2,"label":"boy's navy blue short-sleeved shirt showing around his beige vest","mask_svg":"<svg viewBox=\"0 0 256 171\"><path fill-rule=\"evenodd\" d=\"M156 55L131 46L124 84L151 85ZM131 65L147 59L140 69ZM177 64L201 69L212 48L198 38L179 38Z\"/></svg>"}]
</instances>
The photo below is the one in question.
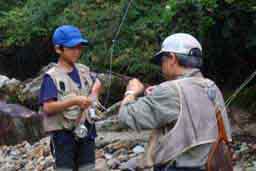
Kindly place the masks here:
<instances>
[{"instance_id":1,"label":"boy's navy blue short-sleeved shirt showing around his beige vest","mask_svg":"<svg viewBox=\"0 0 256 171\"><path fill-rule=\"evenodd\" d=\"M78 85L78 87L81 88L81 80L80 80L79 72L77 68L74 67L73 70L70 73L68 73L68 75ZM52 78L48 74L45 74L41 88L40 88L39 104L43 105L44 102L47 102L49 100L57 100L57 97L58 97L57 87L55 86ZM89 133L90 133L89 137L94 139L97 136L95 125L91 125L87 121L85 125L89 130Z\"/></svg>"}]
</instances>

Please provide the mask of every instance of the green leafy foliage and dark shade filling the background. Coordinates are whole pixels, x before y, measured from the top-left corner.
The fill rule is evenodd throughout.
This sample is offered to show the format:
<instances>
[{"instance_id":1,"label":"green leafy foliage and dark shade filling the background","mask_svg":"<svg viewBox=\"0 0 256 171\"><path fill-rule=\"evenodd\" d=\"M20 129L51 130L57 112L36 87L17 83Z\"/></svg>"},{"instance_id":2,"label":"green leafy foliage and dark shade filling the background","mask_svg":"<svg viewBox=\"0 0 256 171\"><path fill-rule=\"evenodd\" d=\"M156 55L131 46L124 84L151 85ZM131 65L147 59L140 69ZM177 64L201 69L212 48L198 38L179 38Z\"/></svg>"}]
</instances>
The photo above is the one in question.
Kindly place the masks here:
<instances>
[{"instance_id":1,"label":"green leafy foliage and dark shade filling the background","mask_svg":"<svg viewBox=\"0 0 256 171\"><path fill-rule=\"evenodd\" d=\"M81 62L98 71L109 70L112 39L127 0L22 2L21 5L9 3L9 6L2 2L6 9L0 14L4 46L26 47L31 42L50 40L57 26L73 24L91 42ZM206 66L203 71L207 76L222 86L234 88L255 69L255 30L255 0L133 1L116 40L112 67L114 72L149 83L159 81L160 70L150 64L150 58L166 36L186 32L203 44Z\"/></svg>"}]
</instances>

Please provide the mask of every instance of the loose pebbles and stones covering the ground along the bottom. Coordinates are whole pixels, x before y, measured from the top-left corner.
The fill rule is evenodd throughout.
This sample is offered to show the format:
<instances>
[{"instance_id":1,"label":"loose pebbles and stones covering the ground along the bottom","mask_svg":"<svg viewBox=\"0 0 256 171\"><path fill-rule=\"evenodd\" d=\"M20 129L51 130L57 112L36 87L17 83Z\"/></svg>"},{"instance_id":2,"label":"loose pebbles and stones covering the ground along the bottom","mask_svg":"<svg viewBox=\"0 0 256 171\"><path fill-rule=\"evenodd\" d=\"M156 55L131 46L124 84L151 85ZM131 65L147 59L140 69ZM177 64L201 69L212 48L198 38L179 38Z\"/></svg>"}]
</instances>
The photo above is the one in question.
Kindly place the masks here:
<instances>
[{"instance_id":1,"label":"loose pebbles and stones covering the ground along the bottom","mask_svg":"<svg viewBox=\"0 0 256 171\"><path fill-rule=\"evenodd\" d=\"M96 140L98 171L118 171L120 164L144 152L148 132L104 133ZM54 159L49 148L50 138L29 144L0 147L0 171L53 171ZM256 171L256 140L235 136L232 144L236 171Z\"/></svg>"}]
</instances>

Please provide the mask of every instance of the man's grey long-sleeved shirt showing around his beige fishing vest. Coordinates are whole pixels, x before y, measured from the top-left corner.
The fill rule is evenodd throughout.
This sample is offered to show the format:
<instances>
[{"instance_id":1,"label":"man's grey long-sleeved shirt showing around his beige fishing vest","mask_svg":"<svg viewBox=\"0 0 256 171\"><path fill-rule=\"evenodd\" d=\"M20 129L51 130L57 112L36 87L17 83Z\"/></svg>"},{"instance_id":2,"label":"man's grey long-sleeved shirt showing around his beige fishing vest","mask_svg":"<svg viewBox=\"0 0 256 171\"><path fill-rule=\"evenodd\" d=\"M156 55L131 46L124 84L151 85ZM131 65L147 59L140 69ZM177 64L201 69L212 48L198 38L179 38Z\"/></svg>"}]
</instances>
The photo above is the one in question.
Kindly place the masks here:
<instances>
[{"instance_id":1,"label":"man's grey long-sleeved shirt showing around his beige fishing vest","mask_svg":"<svg viewBox=\"0 0 256 171\"><path fill-rule=\"evenodd\" d=\"M178 79L193 76L202 77L199 70L192 69L188 70L188 72L180 76ZM214 86L216 87L215 84ZM210 91L209 93L211 96ZM216 103L223 112L226 124L225 126L227 129L226 131L231 140L230 125L227 119L225 105L218 88L217 95L215 96L214 103ZM195 101L190 103L192 104L197 102ZM198 106L200 107L200 104L198 104ZM138 98L135 101L123 105L119 111L119 119L129 127L138 131L142 129L160 129L165 127L167 124L170 125L173 123L174 125L180 117L180 110L181 100L179 90L172 81L167 81L156 86L151 95ZM212 137L216 137L216 134L217 132L213 131ZM172 140L169 139L168 141ZM193 146L192 148L182 151L179 155L175 156L175 158L172 158L172 160L168 162L175 161L177 166L183 167L203 166L207 160L211 144L212 141L209 141L209 143L202 143L200 145ZM155 161L158 161L158 159L155 159Z\"/></svg>"}]
</instances>

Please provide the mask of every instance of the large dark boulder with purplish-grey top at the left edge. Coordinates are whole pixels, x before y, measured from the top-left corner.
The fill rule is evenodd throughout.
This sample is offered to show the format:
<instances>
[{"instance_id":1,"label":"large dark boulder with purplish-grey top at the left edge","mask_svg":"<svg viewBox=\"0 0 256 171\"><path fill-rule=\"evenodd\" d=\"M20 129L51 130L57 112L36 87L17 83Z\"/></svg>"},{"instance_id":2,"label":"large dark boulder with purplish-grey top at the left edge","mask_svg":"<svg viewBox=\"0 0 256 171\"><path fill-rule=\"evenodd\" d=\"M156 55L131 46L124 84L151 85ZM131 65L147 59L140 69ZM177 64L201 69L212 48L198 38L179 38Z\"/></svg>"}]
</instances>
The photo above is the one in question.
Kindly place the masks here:
<instances>
[{"instance_id":1,"label":"large dark boulder with purplish-grey top at the left edge","mask_svg":"<svg viewBox=\"0 0 256 171\"><path fill-rule=\"evenodd\" d=\"M42 138L42 116L19 104L0 102L0 145Z\"/></svg>"}]
</instances>

